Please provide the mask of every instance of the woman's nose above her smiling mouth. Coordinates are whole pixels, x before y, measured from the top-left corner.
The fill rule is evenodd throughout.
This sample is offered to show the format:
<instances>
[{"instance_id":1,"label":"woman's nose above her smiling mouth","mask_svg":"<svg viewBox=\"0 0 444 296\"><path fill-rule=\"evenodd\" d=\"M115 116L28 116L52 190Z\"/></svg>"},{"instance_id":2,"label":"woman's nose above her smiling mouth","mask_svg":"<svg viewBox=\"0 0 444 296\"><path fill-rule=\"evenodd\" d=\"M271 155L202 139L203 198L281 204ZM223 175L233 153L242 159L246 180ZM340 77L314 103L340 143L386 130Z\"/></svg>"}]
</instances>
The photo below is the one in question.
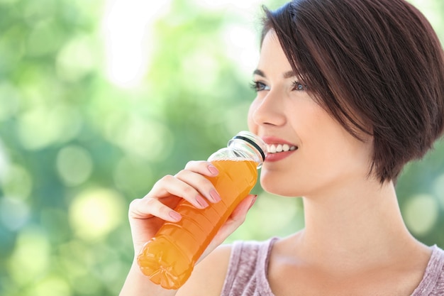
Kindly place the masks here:
<instances>
[{"instance_id":1,"label":"woman's nose above her smiling mouth","mask_svg":"<svg viewBox=\"0 0 444 296\"><path fill-rule=\"evenodd\" d=\"M260 94L250 105L250 116L257 125L282 126L286 122L283 94L270 90L265 97Z\"/></svg>"}]
</instances>

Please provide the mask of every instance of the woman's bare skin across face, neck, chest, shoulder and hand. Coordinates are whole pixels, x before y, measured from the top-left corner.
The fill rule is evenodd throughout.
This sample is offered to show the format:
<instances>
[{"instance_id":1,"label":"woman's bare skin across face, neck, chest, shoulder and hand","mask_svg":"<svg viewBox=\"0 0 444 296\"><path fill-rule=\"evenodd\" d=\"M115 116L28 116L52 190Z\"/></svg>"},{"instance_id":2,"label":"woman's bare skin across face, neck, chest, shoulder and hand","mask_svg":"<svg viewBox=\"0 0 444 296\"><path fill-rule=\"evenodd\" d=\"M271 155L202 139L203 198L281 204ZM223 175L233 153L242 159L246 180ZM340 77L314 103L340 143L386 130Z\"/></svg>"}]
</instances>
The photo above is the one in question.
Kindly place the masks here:
<instances>
[{"instance_id":1,"label":"woman's bare skin across face, neck, chest, shoulder and hand","mask_svg":"<svg viewBox=\"0 0 444 296\"><path fill-rule=\"evenodd\" d=\"M411 295L431 250L406 229L393 182L369 176L372 138L358 141L311 99L273 31L262 43L254 80L250 131L269 144L297 147L285 158L265 161L261 185L304 200L305 228L272 248L268 276L274 295ZM190 162L135 199L129 211L135 254L163 220L174 221L171 208L178 198L172 195L197 207L199 200L217 202L203 177L216 174L205 161ZM219 245L242 224L254 200L249 195L235 209L179 291L153 285L134 263L121 295L220 295L231 246Z\"/></svg>"}]
</instances>

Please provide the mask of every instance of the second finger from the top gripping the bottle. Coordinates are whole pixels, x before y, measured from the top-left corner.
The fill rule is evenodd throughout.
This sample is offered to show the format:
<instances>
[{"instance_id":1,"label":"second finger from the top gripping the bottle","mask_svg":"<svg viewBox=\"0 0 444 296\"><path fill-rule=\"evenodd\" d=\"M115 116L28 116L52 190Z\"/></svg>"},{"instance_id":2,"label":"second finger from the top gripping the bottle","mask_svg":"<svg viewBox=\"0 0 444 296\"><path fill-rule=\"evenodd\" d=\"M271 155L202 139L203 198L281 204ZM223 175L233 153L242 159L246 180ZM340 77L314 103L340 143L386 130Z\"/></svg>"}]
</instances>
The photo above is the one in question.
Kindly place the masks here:
<instances>
[{"instance_id":1,"label":"second finger from the top gripping the bottle","mask_svg":"<svg viewBox=\"0 0 444 296\"><path fill-rule=\"evenodd\" d=\"M174 177L190 185L199 192L200 196L205 197L209 202L216 203L221 201L221 196L214 188L213 183L204 175L192 170L181 170Z\"/></svg>"}]
</instances>

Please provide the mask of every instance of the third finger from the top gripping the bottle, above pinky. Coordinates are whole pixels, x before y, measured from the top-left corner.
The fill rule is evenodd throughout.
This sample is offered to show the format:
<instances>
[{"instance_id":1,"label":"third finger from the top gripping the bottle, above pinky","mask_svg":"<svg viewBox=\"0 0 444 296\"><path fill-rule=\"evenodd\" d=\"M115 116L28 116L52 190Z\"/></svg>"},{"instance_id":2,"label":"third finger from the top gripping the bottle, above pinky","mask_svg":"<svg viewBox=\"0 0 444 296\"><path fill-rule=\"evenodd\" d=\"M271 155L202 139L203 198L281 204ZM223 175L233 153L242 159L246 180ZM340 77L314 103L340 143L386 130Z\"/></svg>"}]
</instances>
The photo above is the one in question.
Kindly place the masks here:
<instances>
[{"instance_id":1,"label":"third finger from the top gripping the bottle, above pinky","mask_svg":"<svg viewBox=\"0 0 444 296\"><path fill-rule=\"evenodd\" d=\"M189 172L187 170L182 170L177 175L179 174L193 174L193 177L200 177L206 180L205 177L203 177L202 175L196 174L195 172ZM187 177L183 180L180 180L179 177L166 175L155 183L155 185L152 187L152 190L148 192L148 194L145 195L144 198L162 199L174 195L176 197L182 197L183 199L186 199L198 209L204 209L208 207L208 202L206 202L205 198L202 197L199 191L197 191L192 185L189 185L187 183L186 179L190 178L192 177ZM209 182L208 180L206 181Z\"/></svg>"}]
</instances>

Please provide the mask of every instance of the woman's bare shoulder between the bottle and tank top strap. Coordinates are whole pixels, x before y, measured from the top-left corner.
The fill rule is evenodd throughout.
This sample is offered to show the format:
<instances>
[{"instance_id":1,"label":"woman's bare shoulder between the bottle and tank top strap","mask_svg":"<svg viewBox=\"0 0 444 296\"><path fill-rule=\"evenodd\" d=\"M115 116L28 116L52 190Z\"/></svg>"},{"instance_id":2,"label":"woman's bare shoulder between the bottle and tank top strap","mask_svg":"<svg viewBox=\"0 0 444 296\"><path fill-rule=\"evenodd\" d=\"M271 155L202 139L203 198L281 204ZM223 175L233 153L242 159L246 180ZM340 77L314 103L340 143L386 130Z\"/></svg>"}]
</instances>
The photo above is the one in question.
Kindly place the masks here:
<instances>
[{"instance_id":1,"label":"woman's bare shoulder between the bottle and tank top strap","mask_svg":"<svg viewBox=\"0 0 444 296\"><path fill-rule=\"evenodd\" d=\"M231 245L218 246L194 267L187 283L177 292L177 296L221 295L231 256Z\"/></svg>"}]
</instances>

